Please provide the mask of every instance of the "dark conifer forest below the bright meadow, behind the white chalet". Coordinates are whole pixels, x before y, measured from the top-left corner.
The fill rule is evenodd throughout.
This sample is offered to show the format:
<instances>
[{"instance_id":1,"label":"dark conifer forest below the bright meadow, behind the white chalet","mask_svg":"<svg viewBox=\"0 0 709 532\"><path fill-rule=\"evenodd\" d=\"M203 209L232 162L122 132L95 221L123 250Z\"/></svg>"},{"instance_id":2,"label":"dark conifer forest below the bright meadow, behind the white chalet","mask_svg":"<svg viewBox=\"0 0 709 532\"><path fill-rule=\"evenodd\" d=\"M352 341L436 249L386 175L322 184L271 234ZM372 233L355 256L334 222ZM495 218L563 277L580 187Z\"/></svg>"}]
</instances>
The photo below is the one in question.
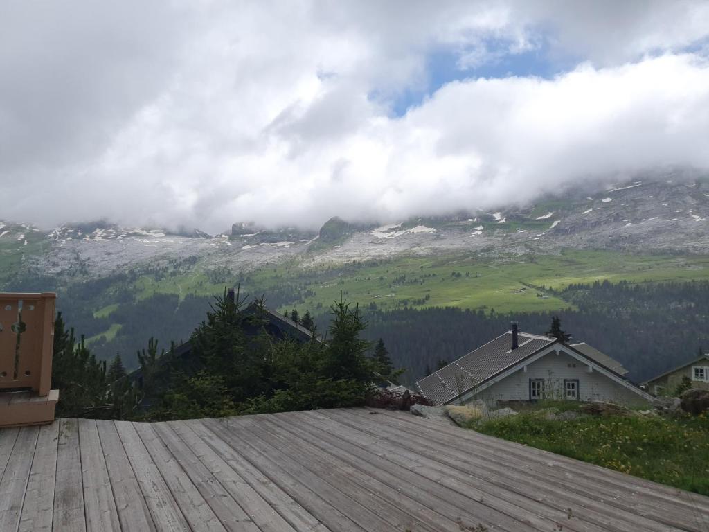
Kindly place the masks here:
<instances>
[{"instance_id":1,"label":"dark conifer forest below the bright meadow, behind the white chalet","mask_svg":"<svg viewBox=\"0 0 709 532\"><path fill-rule=\"evenodd\" d=\"M552 316L562 318L572 341L584 341L616 358L638 382L709 349L709 282L628 284L596 282L556 292L578 310L486 314L461 309L403 309L369 312L365 336L383 338L396 365L413 382L437 362L462 357L507 331L542 334Z\"/></svg>"}]
</instances>

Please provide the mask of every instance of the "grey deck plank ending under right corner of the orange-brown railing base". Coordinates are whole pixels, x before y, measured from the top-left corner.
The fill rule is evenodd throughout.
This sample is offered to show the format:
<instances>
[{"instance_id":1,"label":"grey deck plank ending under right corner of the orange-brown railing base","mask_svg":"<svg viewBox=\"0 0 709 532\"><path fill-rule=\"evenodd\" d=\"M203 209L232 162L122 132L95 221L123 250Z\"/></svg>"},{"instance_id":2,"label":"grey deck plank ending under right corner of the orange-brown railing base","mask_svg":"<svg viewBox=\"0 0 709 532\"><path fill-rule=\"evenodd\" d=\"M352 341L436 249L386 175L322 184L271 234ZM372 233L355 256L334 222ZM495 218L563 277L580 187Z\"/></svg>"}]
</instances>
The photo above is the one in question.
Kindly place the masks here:
<instances>
[{"instance_id":1,"label":"grey deck plank ending under right corner of the orange-brown railing base","mask_svg":"<svg viewBox=\"0 0 709 532\"><path fill-rule=\"evenodd\" d=\"M40 428L20 518L20 532L52 530L59 421Z\"/></svg>"}]
</instances>

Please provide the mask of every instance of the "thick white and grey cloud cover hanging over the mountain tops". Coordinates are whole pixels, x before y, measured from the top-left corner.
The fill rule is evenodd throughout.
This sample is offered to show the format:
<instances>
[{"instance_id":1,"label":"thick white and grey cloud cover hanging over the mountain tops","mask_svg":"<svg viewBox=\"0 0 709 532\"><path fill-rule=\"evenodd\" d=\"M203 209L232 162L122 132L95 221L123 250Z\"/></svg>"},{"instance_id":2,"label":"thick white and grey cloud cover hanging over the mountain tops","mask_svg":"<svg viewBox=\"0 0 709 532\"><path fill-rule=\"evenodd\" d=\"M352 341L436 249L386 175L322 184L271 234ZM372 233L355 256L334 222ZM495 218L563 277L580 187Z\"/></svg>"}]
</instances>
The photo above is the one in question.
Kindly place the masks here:
<instances>
[{"instance_id":1,"label":"thick white and grey cloud cover hanging over the mountain tops","mask_svg":"<svg viewBox=\"0 0 709 532\"><path fill-rule=\"evenodd\" d=\"M385 222L709 166L709 66L682 51L707 4L176 5L0 8L0 217ZM546 80L467 70L391 116L438 50L464 69L582 61Z\"/></svg>"}]
</instances>

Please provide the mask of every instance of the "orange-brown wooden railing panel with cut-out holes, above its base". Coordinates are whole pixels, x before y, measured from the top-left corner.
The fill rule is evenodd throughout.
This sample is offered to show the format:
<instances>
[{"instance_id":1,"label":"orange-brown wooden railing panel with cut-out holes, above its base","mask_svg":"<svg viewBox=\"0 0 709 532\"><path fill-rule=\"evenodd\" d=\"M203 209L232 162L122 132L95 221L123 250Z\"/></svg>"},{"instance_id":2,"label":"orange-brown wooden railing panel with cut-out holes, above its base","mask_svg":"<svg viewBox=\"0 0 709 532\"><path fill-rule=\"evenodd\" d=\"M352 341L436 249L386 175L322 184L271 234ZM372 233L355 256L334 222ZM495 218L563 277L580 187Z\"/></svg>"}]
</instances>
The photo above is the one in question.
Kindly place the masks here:
<instances>
[{"instance_id":1,"label":"orange-brown wooden railing panel with cut-out holes, above its base","mask_svg":"<svg viewBox=\"0 0 709 532\"><path fill-rule=\"evenodd\" d=\"M56 299L52 292L0 294L0 389L49 394Z\"/></svg>"}]
</instances>

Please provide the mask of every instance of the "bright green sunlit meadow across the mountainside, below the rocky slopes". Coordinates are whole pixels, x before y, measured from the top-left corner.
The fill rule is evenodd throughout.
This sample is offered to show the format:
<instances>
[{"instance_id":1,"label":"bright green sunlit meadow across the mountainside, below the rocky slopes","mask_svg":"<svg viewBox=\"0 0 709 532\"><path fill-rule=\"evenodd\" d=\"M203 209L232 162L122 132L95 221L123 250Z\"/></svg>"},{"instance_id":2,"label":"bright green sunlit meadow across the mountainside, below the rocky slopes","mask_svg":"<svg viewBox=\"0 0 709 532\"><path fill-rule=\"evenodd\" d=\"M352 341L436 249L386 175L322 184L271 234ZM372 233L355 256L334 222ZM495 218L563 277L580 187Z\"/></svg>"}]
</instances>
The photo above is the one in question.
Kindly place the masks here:
<instances>
[{"instance_id":1,"label":"bright green sunlit meadow across the mountainside, below the rocky slopes","mask_svg":"<svg viewBox=\"0 0 709 532\"><path fill-rule=\"evenodd\" d=\"M545 221L548 223L548 221ZM303 287L314 292L279 308L320 314L339 299L378 309L454 306L495 309L498 313L574 308L548 288L609 279L611 282L660 282L709 278L709 257L629 255L608 251L565 250L559 255L444 255L396 257L307 270L298 262L264 267L249 274L247 292ZM546 287L547 289L540 289ZM543 296L543 297L542 297Z\"/></svg>"}]
</instances>

